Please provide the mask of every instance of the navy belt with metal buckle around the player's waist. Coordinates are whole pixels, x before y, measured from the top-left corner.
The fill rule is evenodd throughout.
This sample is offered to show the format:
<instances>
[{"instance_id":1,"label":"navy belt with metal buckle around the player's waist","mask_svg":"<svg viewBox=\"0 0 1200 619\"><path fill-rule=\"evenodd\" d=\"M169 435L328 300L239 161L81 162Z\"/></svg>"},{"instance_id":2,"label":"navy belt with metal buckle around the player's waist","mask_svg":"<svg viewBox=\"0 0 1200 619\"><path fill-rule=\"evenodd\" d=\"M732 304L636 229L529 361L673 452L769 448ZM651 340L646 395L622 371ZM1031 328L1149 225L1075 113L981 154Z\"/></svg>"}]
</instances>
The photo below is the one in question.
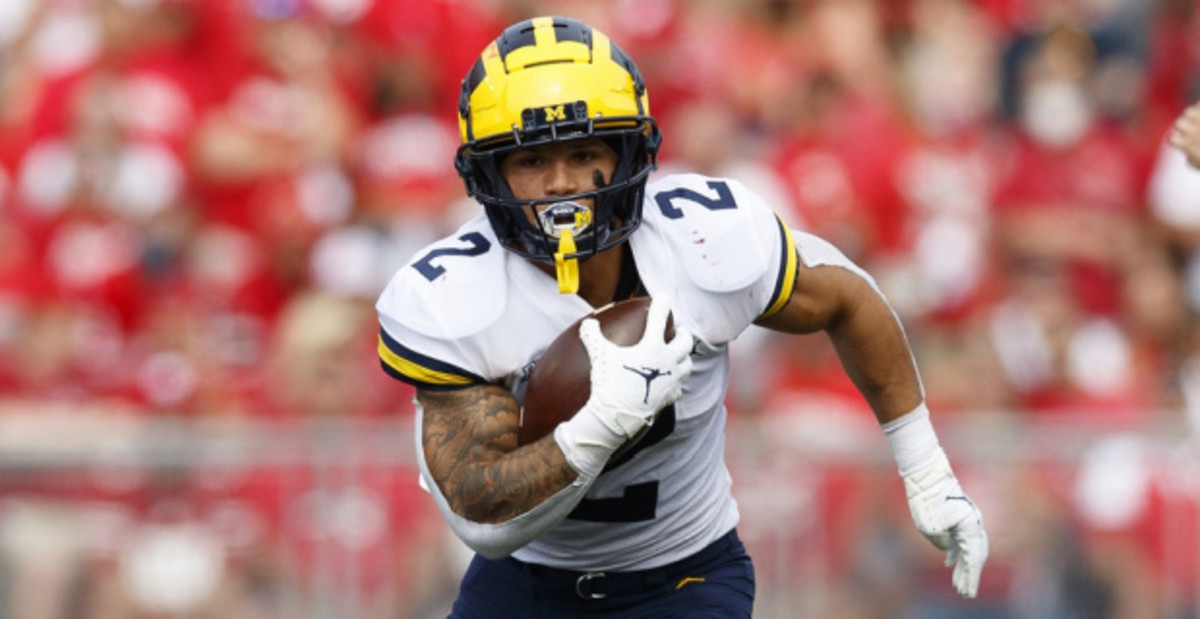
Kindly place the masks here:
<instances>
[{"instance_id":1,"label":"navy belt with metal buckle around the player's waist","mask_svg":"<svg viewBox=\"0 0 1200 619\"><path fill-rule=\"evenodd\" d=\"M654 589L667 583L678 584L676 581L691 576L689 572L695 572L719 561L722 557L728 557L732 548L739 548L738 554L742 554L744 551L740 549L740 546L742 541L738 539L737 529L730 529L730 533L718 537L716 541L709 543L700 552L678 561L649 570L620 572L582 572L560 570L558 567L518 561L516 559L510 560L524 566L539 584L544 587L571 591L584 600L600 600L608 595Z\"/></svg>"}]
</instances>

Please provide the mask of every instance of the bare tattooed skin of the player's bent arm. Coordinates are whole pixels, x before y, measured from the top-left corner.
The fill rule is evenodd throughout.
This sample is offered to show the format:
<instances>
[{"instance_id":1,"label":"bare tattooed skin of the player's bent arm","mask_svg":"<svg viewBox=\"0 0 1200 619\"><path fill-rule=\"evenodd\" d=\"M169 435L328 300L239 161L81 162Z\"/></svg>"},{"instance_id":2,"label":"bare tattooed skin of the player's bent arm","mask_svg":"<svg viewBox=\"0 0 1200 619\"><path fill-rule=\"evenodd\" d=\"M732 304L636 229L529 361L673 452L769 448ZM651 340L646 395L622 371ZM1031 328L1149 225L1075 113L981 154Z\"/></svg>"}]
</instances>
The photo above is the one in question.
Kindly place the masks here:
<instances>
[{"instance_id":1,"label":"bare tattooed skin of the player's bent arm","mask_svg":"<svg viewBox=\"0 0 1200 619\"><path fill-rule=\"evenodd\" d=\"M418 398L430 473L455 513L469 521L511 519L577 476L553 437L517 449L518 404L503 387L421 391Z\"/></svg>"}]
</instances>

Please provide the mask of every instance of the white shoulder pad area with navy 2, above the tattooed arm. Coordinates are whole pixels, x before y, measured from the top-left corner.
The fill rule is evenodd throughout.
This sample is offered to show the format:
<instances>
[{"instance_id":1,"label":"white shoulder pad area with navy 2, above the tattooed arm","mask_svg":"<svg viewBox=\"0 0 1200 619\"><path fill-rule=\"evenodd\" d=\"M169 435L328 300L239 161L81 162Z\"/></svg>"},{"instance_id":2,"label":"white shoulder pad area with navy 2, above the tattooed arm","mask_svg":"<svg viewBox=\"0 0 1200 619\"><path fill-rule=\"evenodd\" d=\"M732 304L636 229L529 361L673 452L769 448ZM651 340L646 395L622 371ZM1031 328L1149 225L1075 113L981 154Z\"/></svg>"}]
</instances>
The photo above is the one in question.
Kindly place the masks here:
<instances>
[{"instance_id":1,"label":"white shoulder pad area with navy 2, above the tattooed arm","mask_svg":"<svg viewBox=\"0 0 1200 619\"><path fill-rule=\"evenodd\" d=\"M428 337L474 335L504 313L505 256L487 220L476 217L396 271L377 308Z\"/></svg>"}]
</instances>

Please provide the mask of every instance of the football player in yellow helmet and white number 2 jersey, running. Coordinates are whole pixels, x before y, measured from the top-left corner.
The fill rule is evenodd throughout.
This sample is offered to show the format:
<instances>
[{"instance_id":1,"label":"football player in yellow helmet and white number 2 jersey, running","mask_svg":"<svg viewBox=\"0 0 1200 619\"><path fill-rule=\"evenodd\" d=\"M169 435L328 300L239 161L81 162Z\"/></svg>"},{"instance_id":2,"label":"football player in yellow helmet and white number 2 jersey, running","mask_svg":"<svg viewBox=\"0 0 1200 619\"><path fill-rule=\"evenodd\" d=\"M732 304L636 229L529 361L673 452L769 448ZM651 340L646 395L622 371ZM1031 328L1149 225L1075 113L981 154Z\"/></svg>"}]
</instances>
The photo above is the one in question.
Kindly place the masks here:
<instances>
[{"instance_id":1,"label":"football player in yellow helmet and white number 2 jersey, running","mask_svg":"<svg viewBox=\"0 0 1200 619\"><path fill-rule=\"evenodd\" d=\"M484 214L413 257L377 305L384 369L418 390L422 481L476 552L451 617L750 617L722 402L728 343L751 324L832 337L917 528L947 551L953 587L976 595L983 519L868 274L734 179L647 184L660 144L647 85L575 19L504 30L463 79L458 114L455 164ZM613 345L584 320L590 398L518 445L539 355L581 317L640 295L653 300L642 341Z\"/></svg>"}]
</instances>

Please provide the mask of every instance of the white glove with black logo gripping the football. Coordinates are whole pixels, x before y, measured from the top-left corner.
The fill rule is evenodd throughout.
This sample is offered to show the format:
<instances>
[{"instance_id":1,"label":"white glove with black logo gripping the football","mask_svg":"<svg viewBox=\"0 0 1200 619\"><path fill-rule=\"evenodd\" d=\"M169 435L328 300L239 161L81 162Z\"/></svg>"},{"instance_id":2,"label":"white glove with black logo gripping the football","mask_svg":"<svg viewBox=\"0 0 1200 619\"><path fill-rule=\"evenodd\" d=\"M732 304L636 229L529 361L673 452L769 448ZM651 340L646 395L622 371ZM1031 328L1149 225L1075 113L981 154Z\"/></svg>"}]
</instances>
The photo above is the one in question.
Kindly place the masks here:
<instances>
[{"instance_id":1,"label":"white glove with black logo gripping the football","mask_svg":"<svg viewBox=\"0 0 1200 619\"><path fill-rule=\"evenodd\" d=\"M652 300L642 339L630 347L610 342L594 318L580 325L592 362L592 395L574 417L558 425L554 440L581 475L599 475L613 451L683 393L692 337L676 324L674 338L662 341L670 313L668 301Z\"/></svg>"}]
</instances>

